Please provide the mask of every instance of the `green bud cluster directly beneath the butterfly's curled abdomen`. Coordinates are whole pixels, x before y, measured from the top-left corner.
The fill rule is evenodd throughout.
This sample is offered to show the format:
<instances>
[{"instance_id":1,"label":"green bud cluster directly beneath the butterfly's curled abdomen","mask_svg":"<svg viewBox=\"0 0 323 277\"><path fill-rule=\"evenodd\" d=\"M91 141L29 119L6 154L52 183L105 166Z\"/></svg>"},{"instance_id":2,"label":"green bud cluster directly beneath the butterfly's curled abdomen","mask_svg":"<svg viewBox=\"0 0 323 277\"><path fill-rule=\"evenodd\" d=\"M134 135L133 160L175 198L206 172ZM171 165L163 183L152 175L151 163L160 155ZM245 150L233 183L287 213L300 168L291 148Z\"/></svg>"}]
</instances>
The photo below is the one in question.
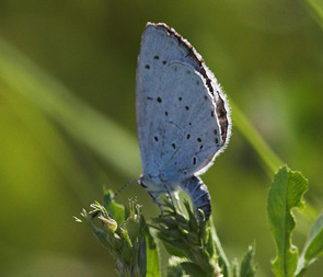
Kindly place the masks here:
<instances>
[{"instance_id":1,"label":"green bud cluster directly beneath the butterfly's curled abdomen","mask_svg":"<svg viewBox=\"0 0 323 277\"><path fill-rule=\"evenodd\" d=\"M219 275L220 267L210 221L203 221L201 226L198 226L199 219L196 218L187 201L184 201L186 215L182 210L175 210L169 201L165 206L168 208L164 208L163 215L152 219L152 227L168 252L180 258L185 257L185 259L176 261L183 261L180 264L189 276ZM169 267L171 268L171 265ZM172 274L177 272L176 266L173 269Z\"/></svg>"}]
</instances>

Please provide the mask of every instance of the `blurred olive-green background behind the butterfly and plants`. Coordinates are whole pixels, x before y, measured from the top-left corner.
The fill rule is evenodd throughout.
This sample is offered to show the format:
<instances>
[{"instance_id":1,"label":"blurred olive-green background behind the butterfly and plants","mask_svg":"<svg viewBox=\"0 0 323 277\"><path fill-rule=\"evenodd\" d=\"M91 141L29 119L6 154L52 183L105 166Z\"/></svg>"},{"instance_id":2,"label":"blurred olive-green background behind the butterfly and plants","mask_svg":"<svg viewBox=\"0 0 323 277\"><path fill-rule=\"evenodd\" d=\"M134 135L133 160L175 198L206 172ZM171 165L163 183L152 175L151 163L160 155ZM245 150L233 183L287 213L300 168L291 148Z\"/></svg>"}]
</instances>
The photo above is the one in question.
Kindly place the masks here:
<instances>
[{"instance_id":1,"label":"blurred olive-green background behind the butterfly and plants","mask_svg":"<svg viewBox=\"0 0 323 277\"><path fill-rule=\"evenodd\" d=\"M140 174L135 73L148 21L187 38L276 154L309 178L295 232L302 245L323 208L316 20L301 0L0 0L0 275L115 276L109 254L72 216L101 201L103 186L117 191ZM255 242L258 276L273 276L275 255L266 169L233 126L228 149L203 176L229 258ZM118 201L129 197L147 218L159 215L139 185ZM307 276L322 272L321 261Z\"/></svg>"}]
</instances>

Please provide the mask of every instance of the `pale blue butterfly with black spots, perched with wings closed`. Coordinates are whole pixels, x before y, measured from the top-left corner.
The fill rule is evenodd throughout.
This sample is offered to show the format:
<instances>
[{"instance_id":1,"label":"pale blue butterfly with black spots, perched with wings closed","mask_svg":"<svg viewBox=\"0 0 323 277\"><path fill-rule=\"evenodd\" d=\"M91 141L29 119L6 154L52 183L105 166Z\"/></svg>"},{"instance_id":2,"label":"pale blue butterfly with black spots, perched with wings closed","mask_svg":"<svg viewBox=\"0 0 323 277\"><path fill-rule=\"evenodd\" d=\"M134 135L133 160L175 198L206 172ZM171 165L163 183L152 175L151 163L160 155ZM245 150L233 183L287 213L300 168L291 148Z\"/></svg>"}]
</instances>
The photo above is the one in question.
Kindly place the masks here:
<instances>
[{"instance_id":1,"label":"pale blue butterfly with black spots, perched with wings closed","mask_svg":"<svg viewBox=\"0 0 323 277\"><path fill-rule=\"evenodd\" d=\"M163 23L147 23L142 34L136 111L140 184L160 208L161 195L183 189L207 220L211 199L199 175L228 145L229 104L201 56Z\"/></svg>"}]
</instances>

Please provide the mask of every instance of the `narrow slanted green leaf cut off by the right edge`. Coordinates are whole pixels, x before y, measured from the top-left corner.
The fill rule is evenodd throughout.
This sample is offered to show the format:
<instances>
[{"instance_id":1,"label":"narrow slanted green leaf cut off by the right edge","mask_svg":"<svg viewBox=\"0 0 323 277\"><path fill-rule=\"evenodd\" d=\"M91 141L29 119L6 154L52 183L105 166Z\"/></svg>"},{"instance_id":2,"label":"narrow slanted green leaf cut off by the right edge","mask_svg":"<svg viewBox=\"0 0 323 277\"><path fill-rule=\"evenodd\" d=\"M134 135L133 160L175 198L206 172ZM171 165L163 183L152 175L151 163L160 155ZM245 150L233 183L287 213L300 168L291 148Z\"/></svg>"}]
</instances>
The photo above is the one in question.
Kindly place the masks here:
<instances>
[{"instance_id":1,"label":"narrow slanted green leaf cut off by the right edge","mask_svg":"<svg viewBox=\"0 0 323 277\"><path fill-rule=\"evenodd\" d=\"M299 258L297 275L301 275L309 265L323 255L323 212L318 217Z\"/></svg>"}]
</instances>

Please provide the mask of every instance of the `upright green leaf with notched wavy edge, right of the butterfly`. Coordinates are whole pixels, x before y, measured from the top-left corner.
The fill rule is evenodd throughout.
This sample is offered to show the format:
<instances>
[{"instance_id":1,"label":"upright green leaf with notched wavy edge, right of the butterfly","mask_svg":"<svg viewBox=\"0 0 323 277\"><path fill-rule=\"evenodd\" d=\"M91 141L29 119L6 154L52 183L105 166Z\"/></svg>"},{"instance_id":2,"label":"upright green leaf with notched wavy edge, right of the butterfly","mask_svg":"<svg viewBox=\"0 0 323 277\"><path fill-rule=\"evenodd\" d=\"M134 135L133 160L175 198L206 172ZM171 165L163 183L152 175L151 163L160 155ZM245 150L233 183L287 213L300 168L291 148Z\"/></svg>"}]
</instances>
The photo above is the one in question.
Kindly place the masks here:
<instances>
[{"instance_id":1,"label":"upright green leaf with notched wavy edge, right of the butterfly","mask_svg":"<svg viewBox=\"0 0 323 277\"><path fill-rule=\"evenodd\" d=\"M299 172L281 166L276 173L268 195L267 212L277 255L272 263L276 276L293 276L298 264L298 249L291 244L295 218L291 209L303 208L302 196L308 181Z\"/></svg>"}]
</instances>

